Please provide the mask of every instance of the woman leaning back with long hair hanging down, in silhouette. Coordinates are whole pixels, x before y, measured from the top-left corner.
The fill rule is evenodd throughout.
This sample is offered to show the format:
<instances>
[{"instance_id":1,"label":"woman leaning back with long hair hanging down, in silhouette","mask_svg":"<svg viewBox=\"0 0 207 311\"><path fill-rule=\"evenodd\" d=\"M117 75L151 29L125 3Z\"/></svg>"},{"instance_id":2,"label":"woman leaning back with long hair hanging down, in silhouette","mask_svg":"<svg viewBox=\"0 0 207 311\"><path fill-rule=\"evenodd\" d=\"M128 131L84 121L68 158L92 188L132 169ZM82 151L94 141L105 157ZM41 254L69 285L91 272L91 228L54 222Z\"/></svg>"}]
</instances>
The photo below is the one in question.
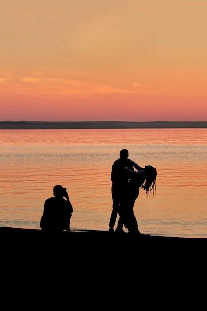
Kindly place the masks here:
<instances>
[{"instance_id":1,"label":"woman leaning back with long hair hanging down, in silhouette","mask_svg":"<svg viewBox=\"0 0 207 311\"><path fill-rule=\"evenodd\" d=\"M157 170L153 166L145 166L142 170L134 171L126 168L125 173L130 178L124 191L123 200L120 204L119 216L121 222L130 233L140 233L138 223L134 215L133 207L139 195L139 187L144 189L146 196L156 191Z\"/></svg>"}]
</instances>

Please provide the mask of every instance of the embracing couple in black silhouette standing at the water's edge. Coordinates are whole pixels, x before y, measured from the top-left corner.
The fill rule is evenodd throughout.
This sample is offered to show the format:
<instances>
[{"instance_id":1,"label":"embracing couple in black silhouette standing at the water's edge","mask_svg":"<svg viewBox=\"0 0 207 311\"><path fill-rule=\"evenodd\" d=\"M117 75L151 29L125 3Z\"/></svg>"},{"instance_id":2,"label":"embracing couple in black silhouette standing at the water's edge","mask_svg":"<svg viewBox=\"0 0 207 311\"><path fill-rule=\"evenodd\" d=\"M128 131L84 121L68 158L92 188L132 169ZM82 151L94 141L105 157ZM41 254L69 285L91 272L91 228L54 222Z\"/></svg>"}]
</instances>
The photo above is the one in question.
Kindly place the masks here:
<instances>
[{"instance_id":1,"label":"embracing couple in black silhouette standing at the water's edge","mask_svg":"<svg viewBox=\"0 0 207 311\"><path fill-rule=\"evenodd\" d=\"M113 208L109 221L109 232L114 232L114 226L119 214L116 233L123 233L123 225L129 233L140 234L133 207L139 195L139 187L146 195L156 191L157 171L153 166L144 168L128 158L127 149L120 151L120 158L114 162L111 171ZM134 168L137 170L135 171Z\"/></svg>"}]
</instances>

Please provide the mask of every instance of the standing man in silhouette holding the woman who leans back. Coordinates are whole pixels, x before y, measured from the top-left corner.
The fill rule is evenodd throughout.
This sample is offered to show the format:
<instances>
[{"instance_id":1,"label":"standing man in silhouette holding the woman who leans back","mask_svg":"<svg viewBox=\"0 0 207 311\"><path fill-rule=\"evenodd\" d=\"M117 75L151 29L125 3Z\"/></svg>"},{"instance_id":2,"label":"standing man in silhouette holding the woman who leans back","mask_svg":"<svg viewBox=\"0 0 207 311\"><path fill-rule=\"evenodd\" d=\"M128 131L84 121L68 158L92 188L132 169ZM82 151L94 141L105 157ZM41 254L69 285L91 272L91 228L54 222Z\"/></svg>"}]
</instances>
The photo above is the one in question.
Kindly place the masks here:
<instances>
[{"instance_id":1,"label":"standing man in silhouette holding the woman who leans back","mask_svg":"<svg viewBox=\"0 0 207 311\"><path fill-rule=\"evenodd\" d=\"M132 160L128 159L129 152L127 149L122 149L120 151L120 158L114 162L112 165L111 170L111 181L112 181L112 187L111 187L111 193L112 193L112 213L109 221L109 232L114 232L114 225L116 223L117 213L119 212L119 206L123 200L123 194L124 190L127 187L127 183L129 180L129 177L126 175L125 171L126 168L134 170L136 168L137 170L141 169L141 166L139 166L137 163L133 162ZM123 223L119 219L118 225L116 228L116 232L122 232L123 231Z\"/></svg>"}]
</instances>

